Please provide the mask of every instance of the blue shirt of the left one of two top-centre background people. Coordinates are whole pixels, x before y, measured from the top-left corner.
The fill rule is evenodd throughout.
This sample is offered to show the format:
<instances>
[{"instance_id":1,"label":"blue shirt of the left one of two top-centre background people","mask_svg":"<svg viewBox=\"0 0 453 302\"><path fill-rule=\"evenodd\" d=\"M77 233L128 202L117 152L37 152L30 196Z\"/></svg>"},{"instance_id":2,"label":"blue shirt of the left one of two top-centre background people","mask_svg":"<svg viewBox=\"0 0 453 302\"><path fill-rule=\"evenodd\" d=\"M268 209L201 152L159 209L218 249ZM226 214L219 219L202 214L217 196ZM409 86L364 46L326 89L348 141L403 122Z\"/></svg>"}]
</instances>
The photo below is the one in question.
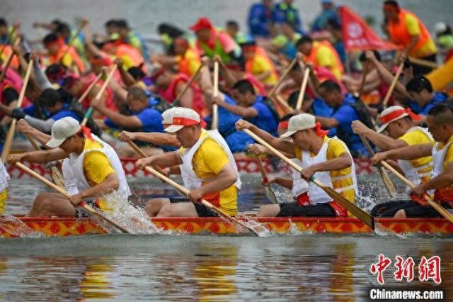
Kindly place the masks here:
<instances>
[{"instance_id":1,"label":"blue shirt of the left one of two top-centre background people","mask_svg":"<svg viewBox=\"0 0 453 302\"><path fill-rule=\"evenodd\" d=\"M268 38L270 36L270 26L272 24L272 10L261 3L251 6L248 12L248 30L251 35Z\"/></svg>"}]
</instances>

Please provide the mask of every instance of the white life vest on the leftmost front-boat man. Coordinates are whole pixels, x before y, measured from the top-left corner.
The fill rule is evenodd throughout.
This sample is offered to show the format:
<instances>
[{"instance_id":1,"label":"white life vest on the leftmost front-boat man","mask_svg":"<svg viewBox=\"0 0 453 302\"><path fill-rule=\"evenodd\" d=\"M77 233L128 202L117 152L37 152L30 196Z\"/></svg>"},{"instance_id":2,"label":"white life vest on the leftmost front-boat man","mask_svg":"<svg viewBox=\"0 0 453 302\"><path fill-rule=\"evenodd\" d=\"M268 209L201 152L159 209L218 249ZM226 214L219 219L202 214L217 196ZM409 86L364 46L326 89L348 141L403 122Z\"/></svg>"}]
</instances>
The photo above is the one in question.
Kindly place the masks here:
<instances>
[{"instance_id":1,"label":"white life vest on the leftmost front-boat man","mask_svg":"<svg viewBox=\"0 0 453 302\"><path fill-rule=\"evenodd\" d=\"M119 186L118 193L122 194L125 197L130 196L131 192L129 185L127 184L126 174L124 169L122 169L122 164L117 153L108 145L108 143L103 142L96 135L91 135L91 137L99 142L103 147L99 149L88 149L81 152L81 155L76 155L75 153L69 154L69 158L65 159L62 164L62 172L64 181L66 184L67 192L71 195L77 194L86 189L90 189L91 186L88 184L84 173L84 158L88 152L102 152L107 156L108 161L115 170ZM88 138L85 138L88 140Z\"/></svg>"}]
</instances>

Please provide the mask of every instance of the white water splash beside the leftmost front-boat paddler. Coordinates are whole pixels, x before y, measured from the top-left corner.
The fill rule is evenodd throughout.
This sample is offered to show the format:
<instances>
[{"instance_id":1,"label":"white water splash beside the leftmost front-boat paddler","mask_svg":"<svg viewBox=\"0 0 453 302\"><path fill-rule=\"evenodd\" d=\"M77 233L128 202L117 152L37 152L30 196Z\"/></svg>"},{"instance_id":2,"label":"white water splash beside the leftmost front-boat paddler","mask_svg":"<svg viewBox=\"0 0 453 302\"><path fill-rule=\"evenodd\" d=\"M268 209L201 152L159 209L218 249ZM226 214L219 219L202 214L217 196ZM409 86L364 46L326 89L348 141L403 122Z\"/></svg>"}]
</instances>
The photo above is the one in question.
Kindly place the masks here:
<instances>
[{"instance_id":1,"label":"white water splash beside the leftmost front-boat paddler","mask_svg":"<svg viewBox=\"0 0 453 302\"><path fill-rule=\"evenodd\" d=\"M149 220L143 209L136 208L117 192L105 195L103 198L108 203L111 211L103 211L103 216L121 225L131 234L154 234L160 233L160 229ZM99 220L99 219L98 219ZM104 227L105 222L101 223ZM111 226L107 229L111 230Z\"/></svg>"}]
</instances>

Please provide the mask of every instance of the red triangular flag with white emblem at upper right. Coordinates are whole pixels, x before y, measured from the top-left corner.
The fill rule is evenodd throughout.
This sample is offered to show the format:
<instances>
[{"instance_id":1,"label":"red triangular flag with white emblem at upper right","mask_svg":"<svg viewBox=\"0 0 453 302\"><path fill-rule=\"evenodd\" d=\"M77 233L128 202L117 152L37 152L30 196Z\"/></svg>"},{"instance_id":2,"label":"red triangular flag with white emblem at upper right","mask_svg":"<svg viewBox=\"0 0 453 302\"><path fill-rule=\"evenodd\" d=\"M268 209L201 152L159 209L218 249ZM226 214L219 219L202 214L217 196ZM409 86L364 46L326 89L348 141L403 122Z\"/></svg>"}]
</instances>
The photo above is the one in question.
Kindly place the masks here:
<instances>
[{"instance_id":1,"label":"red triangular flag with white emblem at upper right","mask_svg":"<svg viewBox=\"0 0 453 302\"><path fill-rule=\"evenodd\" d=\"M382 40L374 31L363 21L360 16L341 6L340 18L342 23L343 41L345 50L396 50L398 46Z\"/></svg>"}]
</instances>

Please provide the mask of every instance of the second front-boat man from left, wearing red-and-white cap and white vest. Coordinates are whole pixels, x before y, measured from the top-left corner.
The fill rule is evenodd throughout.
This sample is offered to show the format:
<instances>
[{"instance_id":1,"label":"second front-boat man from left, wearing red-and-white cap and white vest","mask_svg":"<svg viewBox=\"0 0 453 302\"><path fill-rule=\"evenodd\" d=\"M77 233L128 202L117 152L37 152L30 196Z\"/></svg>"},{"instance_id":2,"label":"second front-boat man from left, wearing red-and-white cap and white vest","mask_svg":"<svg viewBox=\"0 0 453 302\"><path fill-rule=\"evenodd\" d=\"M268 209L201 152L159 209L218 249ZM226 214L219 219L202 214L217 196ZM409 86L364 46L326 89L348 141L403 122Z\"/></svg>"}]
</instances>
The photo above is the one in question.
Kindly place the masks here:
<instances>
[{"instance_id":1,"label":"second front-boat man from left, wearing red-and-white cap and white vest","mask_svg":"<svg viewBox=\"0 0 453 302\"><path fill-rule=\"evenodd\" d=\"M180 150L137 160L137 167L180 166L185 186L190 189L191 203L164 205L156 217L209 217L216 213L203 206L202 198L222 208L231 216L237 213L237 194L241 181L236 162L222 135L217 130L206 131L198 113L183 108L173 116L172 124L165 129L174 133L181 144Z\"/></svg>"}]
</instances>

